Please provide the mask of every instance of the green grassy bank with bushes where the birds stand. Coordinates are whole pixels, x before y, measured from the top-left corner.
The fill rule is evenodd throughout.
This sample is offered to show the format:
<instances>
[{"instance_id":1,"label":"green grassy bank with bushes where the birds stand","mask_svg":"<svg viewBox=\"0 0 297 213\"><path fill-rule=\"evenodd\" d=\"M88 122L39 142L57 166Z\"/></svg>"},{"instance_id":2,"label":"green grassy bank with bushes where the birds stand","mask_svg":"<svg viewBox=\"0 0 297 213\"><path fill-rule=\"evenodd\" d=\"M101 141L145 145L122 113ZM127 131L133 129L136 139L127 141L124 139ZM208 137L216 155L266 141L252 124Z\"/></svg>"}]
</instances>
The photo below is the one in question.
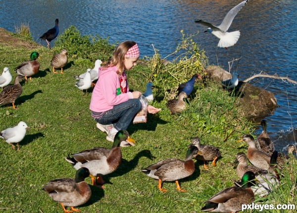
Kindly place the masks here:
<instances>
[{"instance_id":1,"label":"green grassy bank with bushes where the birds stand","mask_svg":"<svg viewBox=\"0 0 297 213\"><path fill-rule=\"evenodd\" d=\"M127 73L131 89L144 92L148 81L159 87L154 90L156 100L152 105L162 111L148 115L145 124L129 127L136 146L122 148L122 164L104 177L112 184L106 184L104 190L91 186L91 200L79 207L83 213L200 213L204 201L238 179L232 162L238 152L246 152L247 145L236 141L245 133L251 134L253 126L238 112L237 98L230 97L213 82L203 81L195 85L192 99L182 114L170 115L166 108L177 85L196 72L203 74L203 66L207 64L203 52L191 38L182 36L177 49L183 54L177 53L179 57L174 64L165 67L156 54ZM19 121L31 128L20 143L19 152L0 141L0 212L61 213L61 207L41 188L49 180L74 178L75 169L64 157L97 146L111 147L91 117L92 90L83 95L74 86L73 76L93 68L95 59L106 60L114 45L98 37L88 43L90 40L81 38L75 28L58 37L50 50L19 36L9 37L11 42L0 40L0 69L8 67L13 78L14 68L28 60L31 52L39 52L42 58L39 73L31 81L22 83L23 93L16 100L18 109L0 107L0 130L15 126ZM76 40L65 42L69 37ZM74 46L85 48L78 50ZM62 48L69 50L68 64L63 69L64 74L53 74L49 62ZM188 192L180 193L175 183L165 182L163 187L167 193L161 193L157 181L147 177L141 169L165 158L184 159L187 146L195 136L199 136L202 143L219 147L222 158L216 167L209 163L208 170L203 169L203 162L195 160L195 173L181 180L181 187ZM155 159L151 160L151 156ZM296 189L294 191L295 186L291 184L296 183L296 160L291 159L284 170L289 178L283 182L284 189L279 188L283 191L277 190L264 202L296 204ZM89 178L86 181L91 183Z\"/></svg>"}]
</instances>

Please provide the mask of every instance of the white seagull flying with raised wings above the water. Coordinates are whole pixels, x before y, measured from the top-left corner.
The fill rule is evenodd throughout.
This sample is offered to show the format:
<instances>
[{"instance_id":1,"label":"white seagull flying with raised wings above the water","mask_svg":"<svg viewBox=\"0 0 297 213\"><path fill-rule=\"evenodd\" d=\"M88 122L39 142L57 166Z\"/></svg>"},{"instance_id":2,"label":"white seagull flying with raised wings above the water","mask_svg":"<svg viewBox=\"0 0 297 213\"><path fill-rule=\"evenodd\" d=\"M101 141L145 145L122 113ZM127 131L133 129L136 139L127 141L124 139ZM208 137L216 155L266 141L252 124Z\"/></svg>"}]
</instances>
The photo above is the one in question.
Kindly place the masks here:
<instances>
[{"instance_id":1,"label":"white seagull flying with raised wings above the water","mask_svg":"<svg viewBox=\"0 0 297 213\"><path fill-rule=\"evenodd\" d=\"M219 26L214 26L211 23L205 22L203 20L196 20L195 22L207 26L207 30L204 32L211 32L213 35L220 39L218 47L228 48L236 44L240 37L240 31L227 32L234 17L237 13L246 5L248 0L244 0L235 7L233 7L225 16L222 23Z\"/></svg>"}]
</instances>

